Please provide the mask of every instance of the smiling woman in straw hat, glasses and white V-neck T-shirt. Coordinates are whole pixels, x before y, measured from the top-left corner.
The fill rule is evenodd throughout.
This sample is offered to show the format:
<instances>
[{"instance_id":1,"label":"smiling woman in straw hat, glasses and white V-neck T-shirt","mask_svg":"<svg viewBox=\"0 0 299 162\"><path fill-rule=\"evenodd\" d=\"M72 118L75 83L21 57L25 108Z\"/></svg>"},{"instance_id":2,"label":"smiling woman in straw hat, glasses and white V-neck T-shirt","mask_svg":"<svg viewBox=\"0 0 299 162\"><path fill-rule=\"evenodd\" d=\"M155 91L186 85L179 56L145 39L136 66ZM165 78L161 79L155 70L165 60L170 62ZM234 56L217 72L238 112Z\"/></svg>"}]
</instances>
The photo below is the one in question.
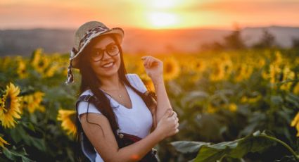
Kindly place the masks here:
<instances>
[{"instance_id":1,"label":"smiling woman in straw hat, glasses and white V-neck T-shirt","mask_svg":"<svg viewBox=\"0 0 299 162\"><path fill-rule=\"evenodd\" d=\"M77 48L71 51L68 82L72 82L71 68L78 68L80 96L94 96L97 101L77 102L76 140L79 143L79 133L84 132L96 150L96 161L140 161L155 144L179 132L177 113L163 82L163 62L152 56L141 58L155 85L155 102L140 77L126 73L123 36L120 27L109 29L96 21L75 32ZM140 140L120 148L120 135Z\"/></svg>"}]
</instances>

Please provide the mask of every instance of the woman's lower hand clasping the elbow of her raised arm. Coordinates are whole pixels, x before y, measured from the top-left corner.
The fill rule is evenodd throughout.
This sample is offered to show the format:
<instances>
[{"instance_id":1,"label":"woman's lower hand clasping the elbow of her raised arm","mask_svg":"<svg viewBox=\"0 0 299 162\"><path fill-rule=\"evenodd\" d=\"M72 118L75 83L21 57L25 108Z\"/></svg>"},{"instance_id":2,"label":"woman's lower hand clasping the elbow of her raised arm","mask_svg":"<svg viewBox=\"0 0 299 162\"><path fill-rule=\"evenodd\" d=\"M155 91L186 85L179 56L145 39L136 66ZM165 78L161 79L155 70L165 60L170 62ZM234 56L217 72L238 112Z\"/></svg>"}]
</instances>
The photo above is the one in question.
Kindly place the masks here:
<instances>
[{"instance_id":1,"label":"woman's lower hand clasping the elbow of her raised arm","mask_svg":"<svg viewBox=\"0 0 299 162\"><path fill-rule=\"evenodd\" d=\"M165 139L177 134L177 132L179 132L179 129L177 129L177 127L179 127L179 118L177 118L177 113L169 108L164 113L164 116L159 120L155 131L158 131L163 139Z\"/></svg>"}]
</instances>

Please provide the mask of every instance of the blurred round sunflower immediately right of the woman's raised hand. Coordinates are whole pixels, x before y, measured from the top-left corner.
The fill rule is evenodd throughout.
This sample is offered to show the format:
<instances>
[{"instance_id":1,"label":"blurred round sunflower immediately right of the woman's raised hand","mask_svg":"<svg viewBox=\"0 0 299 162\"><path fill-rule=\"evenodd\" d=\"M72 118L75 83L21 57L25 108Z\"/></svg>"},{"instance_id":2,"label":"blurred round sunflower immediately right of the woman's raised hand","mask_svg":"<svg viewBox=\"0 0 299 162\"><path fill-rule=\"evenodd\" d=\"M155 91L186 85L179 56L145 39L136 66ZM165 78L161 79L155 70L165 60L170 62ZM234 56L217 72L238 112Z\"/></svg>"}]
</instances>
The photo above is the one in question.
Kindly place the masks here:
<instances>
[{"instance_id":1,"label":"blurred round sunflower immediately right of the woman's raised hand","mask_svg":"<svg viewBox=\"0 0 299 162\"><path fill-rule=\"evenodd\" d=\"M163 75L165 80L173 80L180 73L179 63L174 57L163 61Z\"/></svg>"}]
</instances>

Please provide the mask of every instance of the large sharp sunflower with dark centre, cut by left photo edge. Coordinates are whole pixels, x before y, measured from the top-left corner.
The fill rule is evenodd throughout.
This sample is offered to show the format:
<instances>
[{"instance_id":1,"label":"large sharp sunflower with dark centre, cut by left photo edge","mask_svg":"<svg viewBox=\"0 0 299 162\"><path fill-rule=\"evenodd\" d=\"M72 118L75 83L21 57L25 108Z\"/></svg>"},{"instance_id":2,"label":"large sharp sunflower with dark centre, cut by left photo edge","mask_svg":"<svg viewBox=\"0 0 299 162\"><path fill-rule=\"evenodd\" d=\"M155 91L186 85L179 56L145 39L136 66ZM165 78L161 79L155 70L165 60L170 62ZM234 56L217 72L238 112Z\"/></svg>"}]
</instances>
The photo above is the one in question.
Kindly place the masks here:
<instances>
[{"instance_id":1,"label":"large sharp sunflower with dark centre, cut by left photo edge","mask_svg":"<svg viewBox=\"0 0 299 162\"><path fill-rule=\"evenodd\" d=\"M0 101L0 121L4 127L15 127L15 118L20 118L20 89L12 83L6 86L6 92Z\"/></svg>"}]
</instances>

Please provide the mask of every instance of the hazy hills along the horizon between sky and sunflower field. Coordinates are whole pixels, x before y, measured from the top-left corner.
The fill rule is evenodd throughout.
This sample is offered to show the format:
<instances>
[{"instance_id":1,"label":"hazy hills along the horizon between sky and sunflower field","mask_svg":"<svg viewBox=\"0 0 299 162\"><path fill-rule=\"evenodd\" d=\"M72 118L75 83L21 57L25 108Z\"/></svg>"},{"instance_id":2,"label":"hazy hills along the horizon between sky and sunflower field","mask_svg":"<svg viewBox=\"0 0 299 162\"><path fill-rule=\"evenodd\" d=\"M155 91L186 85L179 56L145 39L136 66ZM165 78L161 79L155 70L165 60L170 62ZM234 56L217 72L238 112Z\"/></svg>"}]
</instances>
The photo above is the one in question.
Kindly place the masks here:
<instances>
[{"instance_id":1,"label":"hazy hills along the horizon between sky and sunflower field","mask_svg":"<svg viewBox=\"0 0 299 162\"><path fill-rule=\"evenodd\" d=\"M290 47L293 38L299 38L299 27L245 27L241 37L250 46L258 42L263 30L274 35L276 44ZM126 29L123 51L129 54L195 53L203 44L223 42L232 30L179 29L143 30ZM69 53L74 46L75 30L32 29L0 30L0 56L30 56L32 51L43 48L45 53Z\"/></svg>"}]
</instances>

